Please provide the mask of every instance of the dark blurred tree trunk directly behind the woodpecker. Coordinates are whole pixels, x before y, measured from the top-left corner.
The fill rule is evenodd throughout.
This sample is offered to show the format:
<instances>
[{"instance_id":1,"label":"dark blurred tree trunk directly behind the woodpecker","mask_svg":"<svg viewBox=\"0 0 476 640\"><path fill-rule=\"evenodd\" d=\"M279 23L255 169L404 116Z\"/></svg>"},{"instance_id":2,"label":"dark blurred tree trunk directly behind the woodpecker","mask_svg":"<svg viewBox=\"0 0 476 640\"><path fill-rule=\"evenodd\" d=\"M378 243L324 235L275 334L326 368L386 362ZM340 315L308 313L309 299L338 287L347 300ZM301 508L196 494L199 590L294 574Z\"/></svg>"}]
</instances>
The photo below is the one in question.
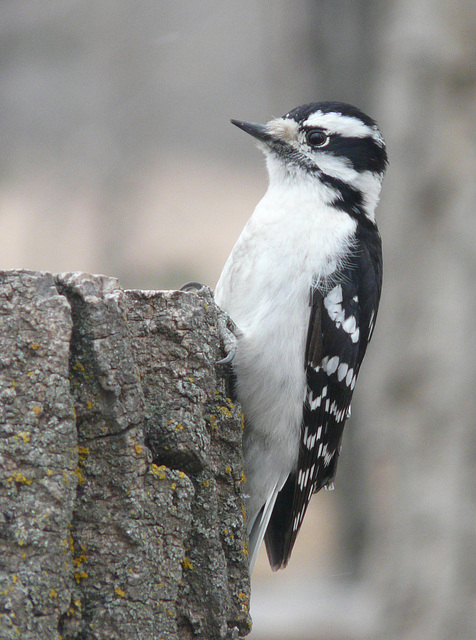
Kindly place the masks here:
<instances>
[{"instance_id":1,"label":"dark blurred tree trunk directly behind the woodpecker","mask_svg":"<svg viewBox=\"0 0 476 640\"><path fill-rule=\"evenodd\" d=\"M377 118L373 95L378 69L379 30L385 7L378 0L308 0L307 32L299 55L309 56L316 100L341 100L355 104ZM380 214L380 211L377 211ZM385 256L384 256L385 257ZM375 348L372 344L369 351ZM369 495L362 491L362 443L359 433L370 415L360 411L360 389L368 375L368 356L357 385L352 417L345 429L339 460L337 487L333 496L337 505L339 555L336 570L356 580L365 547ZM316 503L314 503L316 505ZM312 508L312 507L311 507Z\"/></svg>"}]
</instances>

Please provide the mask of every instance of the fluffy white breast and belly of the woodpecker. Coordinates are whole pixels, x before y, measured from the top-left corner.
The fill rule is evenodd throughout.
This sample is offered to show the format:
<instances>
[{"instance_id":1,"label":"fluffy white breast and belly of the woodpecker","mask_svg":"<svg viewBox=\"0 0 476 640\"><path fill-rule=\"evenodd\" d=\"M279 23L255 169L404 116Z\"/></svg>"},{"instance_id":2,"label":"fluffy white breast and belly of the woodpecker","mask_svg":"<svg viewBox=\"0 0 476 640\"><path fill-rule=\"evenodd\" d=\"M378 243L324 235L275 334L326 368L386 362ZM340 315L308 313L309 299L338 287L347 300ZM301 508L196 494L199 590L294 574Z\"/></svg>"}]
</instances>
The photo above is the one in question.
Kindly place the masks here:
<instances>
[{"instance_id":1,"label":"fluffy white breast and belly of the woodpecker","mask_svg":"<svg viewBox=\"0 0 476 640\"><path fill-rule=\"evenodd\" d=\"M296 465L310 287L333 273L355 232L354 220L326 204L325 189L315 178L272 183L215 290L242 332L233 364L246 418L249 518Z\"/></svg>"}]
</instances>

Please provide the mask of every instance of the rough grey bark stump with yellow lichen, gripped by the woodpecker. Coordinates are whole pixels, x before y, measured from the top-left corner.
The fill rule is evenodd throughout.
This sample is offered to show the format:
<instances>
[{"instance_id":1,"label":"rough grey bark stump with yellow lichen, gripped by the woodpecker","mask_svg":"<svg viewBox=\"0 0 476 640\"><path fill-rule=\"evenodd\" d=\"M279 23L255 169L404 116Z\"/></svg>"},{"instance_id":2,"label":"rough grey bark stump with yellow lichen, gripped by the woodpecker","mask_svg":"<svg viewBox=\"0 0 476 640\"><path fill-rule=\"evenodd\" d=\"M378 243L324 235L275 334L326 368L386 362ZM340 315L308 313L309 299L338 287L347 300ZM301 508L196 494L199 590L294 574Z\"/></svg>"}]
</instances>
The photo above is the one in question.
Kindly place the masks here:
<instances>
[{"instance_id":1,"label":"rough grey bark stump with yellow lichen, gripped by the woodpecker","mask_svg":"<svg viewBox=\"0 0 476 640\"><path fill-rule=\"evenodd\" d=\"M0 637L249 631L242 416L209 293L0 274Z\"/></svg>"}]
</instances>

